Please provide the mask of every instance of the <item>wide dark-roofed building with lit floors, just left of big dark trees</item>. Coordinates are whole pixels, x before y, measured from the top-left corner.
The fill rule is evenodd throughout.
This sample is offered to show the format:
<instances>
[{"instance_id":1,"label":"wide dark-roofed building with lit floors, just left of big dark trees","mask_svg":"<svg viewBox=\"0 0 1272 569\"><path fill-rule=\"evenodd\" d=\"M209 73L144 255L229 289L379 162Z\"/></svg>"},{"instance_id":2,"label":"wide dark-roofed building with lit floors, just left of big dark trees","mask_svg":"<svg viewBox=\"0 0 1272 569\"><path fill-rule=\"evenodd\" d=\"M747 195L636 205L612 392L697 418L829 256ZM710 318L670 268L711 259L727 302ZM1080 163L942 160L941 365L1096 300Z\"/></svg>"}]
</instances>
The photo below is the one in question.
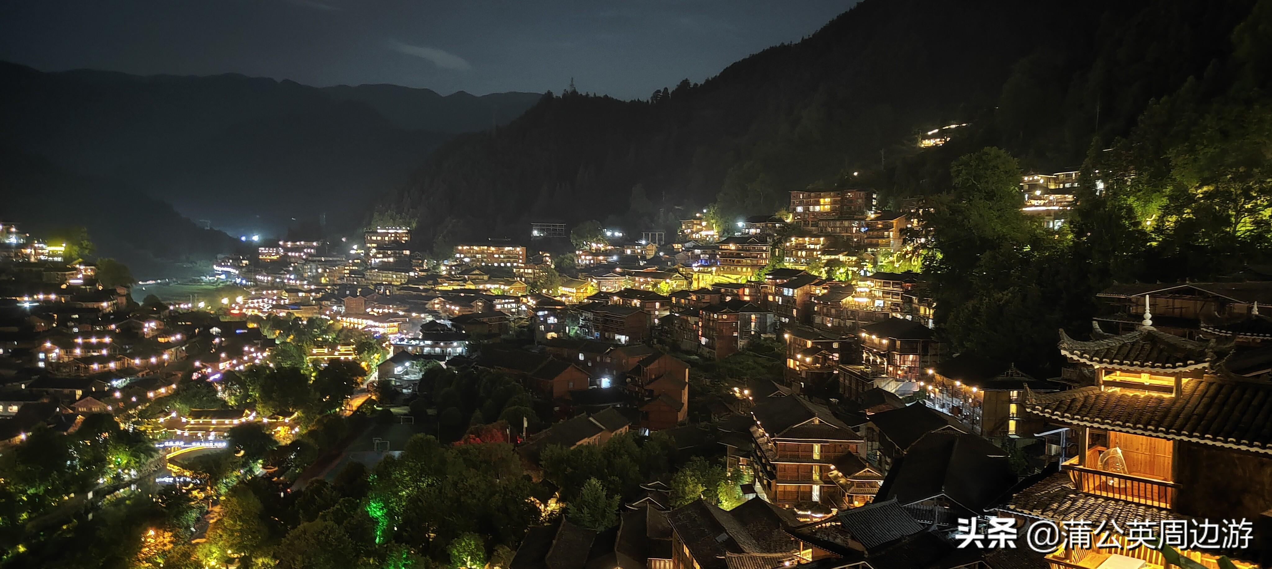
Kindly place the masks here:
<instances>
[{"instance_id":1,"label":"wide dark-roofed building with lit floors, just left of big dark trees","mask_svg":"<svg viewBox=\"0 0 1272 569\"><path fill-rule=\"evenodd\" d=\"M861 326L861 362L903 381L918 381L944 356L932 329L913 320L890 318Z\"/></svg>"}]
</instances>

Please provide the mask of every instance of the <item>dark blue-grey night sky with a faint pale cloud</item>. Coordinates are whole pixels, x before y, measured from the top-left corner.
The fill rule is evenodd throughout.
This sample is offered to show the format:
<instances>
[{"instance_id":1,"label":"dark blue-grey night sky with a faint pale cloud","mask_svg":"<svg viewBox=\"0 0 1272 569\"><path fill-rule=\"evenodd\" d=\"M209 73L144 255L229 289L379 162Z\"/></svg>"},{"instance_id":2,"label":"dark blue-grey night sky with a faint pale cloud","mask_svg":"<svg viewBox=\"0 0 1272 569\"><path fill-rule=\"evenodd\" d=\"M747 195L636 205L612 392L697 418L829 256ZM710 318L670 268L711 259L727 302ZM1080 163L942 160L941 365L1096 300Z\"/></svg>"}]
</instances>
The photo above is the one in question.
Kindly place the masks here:
<instances>
[{"instance_id":1,"label":"dark blue-grey night sky with a faint pale cloud","mask_svg":"<svg viewBox=\"0 0 1272 569\"><path fill-rule=\"evenodd\" d=\"M799 41L855 0L36 0L0 4L0 58L45 71L239 72L308 85L646 98Z\"/></svg>"}]
</instances>

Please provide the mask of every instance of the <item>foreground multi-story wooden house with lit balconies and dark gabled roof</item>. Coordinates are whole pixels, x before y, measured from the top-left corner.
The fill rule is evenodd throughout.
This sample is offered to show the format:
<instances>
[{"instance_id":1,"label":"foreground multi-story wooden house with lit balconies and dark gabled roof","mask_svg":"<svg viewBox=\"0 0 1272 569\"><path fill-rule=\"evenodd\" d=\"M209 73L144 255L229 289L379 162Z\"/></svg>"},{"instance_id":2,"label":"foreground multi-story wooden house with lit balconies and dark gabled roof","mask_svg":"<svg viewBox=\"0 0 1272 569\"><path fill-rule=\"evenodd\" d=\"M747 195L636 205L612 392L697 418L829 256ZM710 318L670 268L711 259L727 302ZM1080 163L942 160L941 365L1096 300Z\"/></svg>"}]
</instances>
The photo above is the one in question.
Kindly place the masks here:
<instances>
[{"instance_id":1,"label":"foreground multi-story wooden house with lit balconies and dark gabled roof","mask_svg":"<svg viewBox=\"0 0 1272 569\"><path fill-rule=\"evenodd\" d=\"M861 437L829 409L800 395L770 398L752 409L758 484L770 502L799 508L822 503L843 508L843 489L829 476L843 455L857 452Z\"/></svg>"}]
</instances>

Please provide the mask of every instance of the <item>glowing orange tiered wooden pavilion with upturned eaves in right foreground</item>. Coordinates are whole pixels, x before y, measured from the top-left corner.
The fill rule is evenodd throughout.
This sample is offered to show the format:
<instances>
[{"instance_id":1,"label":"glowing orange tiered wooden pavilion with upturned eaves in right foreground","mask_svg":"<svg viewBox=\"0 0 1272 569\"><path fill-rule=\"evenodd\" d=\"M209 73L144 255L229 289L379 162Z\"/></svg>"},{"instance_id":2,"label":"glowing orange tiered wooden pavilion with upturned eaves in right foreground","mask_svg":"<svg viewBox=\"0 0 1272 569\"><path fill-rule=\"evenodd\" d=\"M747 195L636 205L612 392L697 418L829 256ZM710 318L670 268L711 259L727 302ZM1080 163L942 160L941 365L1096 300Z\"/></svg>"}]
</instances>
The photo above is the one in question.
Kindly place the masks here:
<instances>
[{"instance_id":1,"label":"glowing orange tiered wooden pavilion with upturned eaves in right foreground","mask_svg":"<svg viewBox=\"0 0 1272 569\"><path fill-rule=\"evenodd\" d=\"M1122 528L1149 522L1150 542L1168 544L1174 519L1184 519L1187 533L1207 518L1245 518L1252 526L1245 544L1216 544L1216 531L1184 536L1178 549L1205 566L1216 566L1219 550L1247 561L1240 568L1266 563L1254 547L1272 537L1272 423L1262 403L1272 400L1272 384L1222 368L1230 340L1194 342L1158 330L1151 320L1145 324L1121 335L1095 330L1090 340L1061 330L1061 353L1091 368L1096 384L1029 394L1027 409L1067 428L1071 445L1061 446L1058 472L1015 493L1002 511L1024 519L1099 519ZM1098 566L1119 555L1135 558L1117 560L1124 566L1165 565L1155 549L1095 547L1096 537L1103 536L1093 536L1091 547L1058 549L1048 561Z\"/></svg>"}]
</instances>

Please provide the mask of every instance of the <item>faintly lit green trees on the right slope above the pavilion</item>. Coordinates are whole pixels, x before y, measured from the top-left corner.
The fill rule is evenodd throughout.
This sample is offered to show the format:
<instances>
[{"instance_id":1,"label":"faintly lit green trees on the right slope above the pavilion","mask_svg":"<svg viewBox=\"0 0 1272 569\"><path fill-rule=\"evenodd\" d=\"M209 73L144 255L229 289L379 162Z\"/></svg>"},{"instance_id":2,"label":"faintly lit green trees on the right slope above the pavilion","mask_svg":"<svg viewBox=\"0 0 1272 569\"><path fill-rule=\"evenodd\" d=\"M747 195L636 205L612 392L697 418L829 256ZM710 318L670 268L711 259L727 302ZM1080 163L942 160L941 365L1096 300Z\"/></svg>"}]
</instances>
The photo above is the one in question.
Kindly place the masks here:
<instances>
[{"instance_id":1,"label":"faintly lit green trees on the right slope above the pavilion","mask_svg":"<svg viewBox=\"0 0 1272 569\"><path fill-rule=\"evenodd\" d=\"M1193 34L1174 25L1180 18L1197 23ZM1098 135L1070 142L1060 130L1065 113L1035 118L1035 136L1024 138L985 128L892 171L895 189L929 193L935 250L923 272L955 351L1054 372L1056 329L1086 335L1102 310L1095 295L1110 283L1224 281L1272 262L1272 1L1164 4L1119 25L1136 33L1102 48L1058 108L1076 107L1107 70L1117 83L1095 90L1100 102L1161 89L1142 109L1127 102L1110 116L1102 103ZM1178 44L1155 41L1159 28ZM1132 65L1136 53L1146 64ZM979 147L990 144L1024 160ZM1060 231L1043 230L1020 212L1021 165L1062 155L1048 147L1074 152L1084 144L1072 161L1081 175L1071 217ZM923 168L931 178L907 184Z\"/></svg>"}]
</instances>

